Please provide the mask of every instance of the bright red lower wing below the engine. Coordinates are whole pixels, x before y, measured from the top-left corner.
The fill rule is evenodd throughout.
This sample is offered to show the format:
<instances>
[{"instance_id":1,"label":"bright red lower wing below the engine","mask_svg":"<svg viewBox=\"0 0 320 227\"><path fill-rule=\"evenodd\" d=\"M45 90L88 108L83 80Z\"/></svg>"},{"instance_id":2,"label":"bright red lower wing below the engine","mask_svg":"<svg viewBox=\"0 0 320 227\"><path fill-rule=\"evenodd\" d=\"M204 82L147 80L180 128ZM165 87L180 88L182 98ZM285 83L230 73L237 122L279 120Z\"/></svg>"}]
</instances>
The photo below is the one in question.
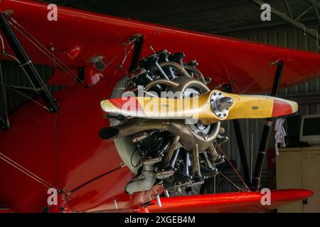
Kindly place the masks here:
<instances>
[{"instance_id":1,"label":"bright red lower wing below the engine","mask_svg":"<svg viewBox=\"0 0 320 227\"><path fill-rule=\"evenodd\" d=\"M213 213L213 212L264 212L294 201L306 199L314 194L305 189L271 191L271 205L262 206L260 192L232 192L161 198L162 206L156 201L147 206L150 213Z\"/></svg>"}]
</instances>

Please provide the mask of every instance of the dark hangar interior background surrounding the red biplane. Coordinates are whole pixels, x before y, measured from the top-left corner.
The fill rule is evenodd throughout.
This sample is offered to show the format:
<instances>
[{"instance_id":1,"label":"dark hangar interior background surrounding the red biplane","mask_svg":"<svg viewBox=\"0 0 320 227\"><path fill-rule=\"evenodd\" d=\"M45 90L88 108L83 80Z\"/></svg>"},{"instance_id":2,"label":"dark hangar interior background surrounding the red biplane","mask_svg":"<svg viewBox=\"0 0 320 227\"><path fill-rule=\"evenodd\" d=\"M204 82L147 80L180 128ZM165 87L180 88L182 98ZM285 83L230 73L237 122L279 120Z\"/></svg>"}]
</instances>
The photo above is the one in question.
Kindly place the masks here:
<instances>
[{"instance_id":1,"label":"dark hangar interior background surrounding the red biplane","mask_svg":"<svg viewBox=\"0 0 320 227\"><path fill-rule=\"evenodd\" d=\"M41 2L312 52L319 52L320 48L320 37L316 32L320 31L320 1L318 0L48 0ZM260 15L262 10L259 4L261 2L272 6L271 21L261 21ZM21 77L23 72L16 63L1 62L1 67L3 69L4 81L7 84L28 86L28 79ZM50 77L52 70L49 67L43 65L37 65L36 67L44 80ZM52 86L50 90L55 91L62 88ZM7 92L7 102L10 111L14 111L18 106L28 101L21 94L16 94L9 90ZM320 180L317 177L320 174L320 156L316 155L320 154L320 148L316 148L316 145L314 145L311 146L314 150L310 150L311 148L309 148L306 142L299 141L301 116L320 114L320 77L304 84L282 89L279 92L279 97L297 101L299 112L294 114L294 116L284 117L284 128L287 132L287 148L279 149L279 157L275 157L274 155L274 130L272 130L269 143L270 149L262 172L262 187L271 189L281 187L309 187L310 189L311 187L315 192L313 198L309 199L309 201L304 201L304 205L301 203L294 204L284 208L283 211L320 212ZM2 96L0 101L0 114L2 116L4 114L4 99ZM320 115L318 116L319 118ZM263 121L263 119L240 120L245 156L251 179L252 172L255 170ZM319 123L319 120L315 120L314 122ZM225 128L225 135L228 135L229 138L228 143L223 145L225 153L240 172L242 178L244 178L233 123L231 121L225 122L223 123L223 127ZM320 125L318 125L318 128L320 128ZM318 132L320 133L320 131ZM275 159L277 159L277 164L275 163ZM302 167L302 162L305 162L305 160L311 160L310 165L305 165L312 166L314 169L304 170L305 167ZM207 192L238 191L236 187L241 187L242 182L227 162L221 171L233 181L233 184L230 184L230 182L222 177L215 177L206 185ZM289 177L291 180L284 182L282 178L277 179L279 177L283 177L283 179ZM313 181L313 184L309 183L308 180ZM306 183L302 184L302 182ZM309 205L311 204L311 207L308 206L308 203Z\"/></svg>"}]
</instances>

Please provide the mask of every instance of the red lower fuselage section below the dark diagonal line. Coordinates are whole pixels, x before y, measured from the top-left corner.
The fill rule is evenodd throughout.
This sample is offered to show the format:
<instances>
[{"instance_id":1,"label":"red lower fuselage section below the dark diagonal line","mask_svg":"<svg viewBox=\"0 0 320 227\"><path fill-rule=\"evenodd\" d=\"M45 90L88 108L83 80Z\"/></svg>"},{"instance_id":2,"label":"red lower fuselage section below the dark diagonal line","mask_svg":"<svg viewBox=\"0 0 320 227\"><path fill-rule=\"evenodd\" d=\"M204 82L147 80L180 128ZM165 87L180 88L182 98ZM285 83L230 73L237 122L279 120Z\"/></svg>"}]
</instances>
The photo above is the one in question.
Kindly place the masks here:
<instances>
[{"instance_id":1,"label":"red lower fuselage section below the dark diagonal line","mask_svg":"<svg viewBox=\"0 0 320 227\"><path fill-rule=\"evenodd\" d=\"M135 193L132 196L125 194L124 186L133 177L134 175L127 167L123 167L73 192L68 204L73 211L78 212L130 212L149 202L149 196L154 198L156 194L163 192L162 187L155 186L149 191L149 195L147 192ZM86 202L84 203L84 201Z\"/></svg>"}]
</instances>

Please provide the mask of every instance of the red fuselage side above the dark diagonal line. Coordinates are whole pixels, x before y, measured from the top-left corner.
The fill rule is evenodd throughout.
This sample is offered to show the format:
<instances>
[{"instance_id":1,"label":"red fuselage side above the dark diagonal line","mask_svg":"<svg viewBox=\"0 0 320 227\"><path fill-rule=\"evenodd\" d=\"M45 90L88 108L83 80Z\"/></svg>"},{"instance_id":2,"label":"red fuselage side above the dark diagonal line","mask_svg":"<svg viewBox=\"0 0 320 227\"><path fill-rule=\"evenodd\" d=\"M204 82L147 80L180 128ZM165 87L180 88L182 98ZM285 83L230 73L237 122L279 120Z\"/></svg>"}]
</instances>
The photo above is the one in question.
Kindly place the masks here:
<instances>
[{"instance_id":1,"label":"red fuselage side above the dark diagonal line","mask_svg":"<svg viewBox=\"0 0 320 227\"><path fill-rule=\"evenodd\" d=\"M10 117L11 129L0 131L1 153L66 192L117 169L122 160L113 141L98 136L101 127L109 125L100 100L110 96L114 82L105 79L95 89L83 84L55 93L57 114L33 103L21 107ZM46 206L46 187L6 162L0 162L0 169L3 204L15 211ZM39 200L33 201L33 196Z\"/></svg>"}]
</instances>

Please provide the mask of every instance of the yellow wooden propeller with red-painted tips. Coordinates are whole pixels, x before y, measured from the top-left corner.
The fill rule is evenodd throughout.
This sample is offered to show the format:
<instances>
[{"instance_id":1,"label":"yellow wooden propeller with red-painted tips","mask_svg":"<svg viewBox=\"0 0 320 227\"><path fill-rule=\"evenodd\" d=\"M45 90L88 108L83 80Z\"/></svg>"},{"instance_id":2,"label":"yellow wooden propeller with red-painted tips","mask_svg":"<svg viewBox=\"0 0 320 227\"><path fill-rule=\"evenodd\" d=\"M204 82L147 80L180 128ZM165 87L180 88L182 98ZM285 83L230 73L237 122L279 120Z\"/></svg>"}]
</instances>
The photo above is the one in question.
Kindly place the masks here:
<instances>
[{"instance_id":1,"label":"yellow wooden propeller with red-painted tips","mask_svg":"<svg viewBox=\"0 0 320 227\"><path fill-rule=\"evenodd\" d=\"M107 99L101 101L101 106L110 114L149 119L201 119L208 124L238 118L283 116L298 110L294 101L218 90L186 99L148 96Z\"/></svg>"}]
</instances>

